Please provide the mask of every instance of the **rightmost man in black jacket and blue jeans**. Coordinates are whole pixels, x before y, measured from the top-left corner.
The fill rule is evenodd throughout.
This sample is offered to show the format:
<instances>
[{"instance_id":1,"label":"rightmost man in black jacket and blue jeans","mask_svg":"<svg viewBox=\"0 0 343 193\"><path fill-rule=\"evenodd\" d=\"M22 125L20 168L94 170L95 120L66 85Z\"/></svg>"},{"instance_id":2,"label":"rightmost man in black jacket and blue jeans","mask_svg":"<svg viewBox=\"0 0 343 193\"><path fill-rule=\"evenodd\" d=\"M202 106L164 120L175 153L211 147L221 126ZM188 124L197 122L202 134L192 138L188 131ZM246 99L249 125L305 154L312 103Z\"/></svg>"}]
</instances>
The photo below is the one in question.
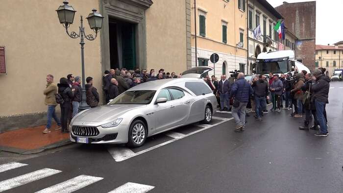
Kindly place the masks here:
<instances>
[{"instance_id":1,"label":"rightmost man in black jacket and blue jeans","mask_svg":"<svg viewBox=\"0 0 343 193\"><path fill-rule=\"evenodd\" d=\"M324 118L324 109L325 104L328 102L330 79L318 69L313 72L313 76L316 83L312 86L313 96L311 100L315 102L317 121L320 125L320 131L315 135L326 137L329 133L327 132L327 122Z\"/></svg>"}]
</instances>

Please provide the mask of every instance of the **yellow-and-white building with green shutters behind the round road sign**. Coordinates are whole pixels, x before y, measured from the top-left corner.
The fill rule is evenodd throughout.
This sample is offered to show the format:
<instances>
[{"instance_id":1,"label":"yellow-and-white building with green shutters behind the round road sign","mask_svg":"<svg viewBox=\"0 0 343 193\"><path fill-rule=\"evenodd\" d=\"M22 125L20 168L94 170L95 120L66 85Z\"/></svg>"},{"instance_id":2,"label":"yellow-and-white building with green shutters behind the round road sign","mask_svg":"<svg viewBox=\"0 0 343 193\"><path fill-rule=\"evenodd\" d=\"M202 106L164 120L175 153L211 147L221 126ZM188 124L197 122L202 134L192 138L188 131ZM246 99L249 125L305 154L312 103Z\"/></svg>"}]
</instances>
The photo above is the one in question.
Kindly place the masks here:
<instances>
[{"instance_id":1,"label":"yellow-and-white building with green shutters behind the round road sign","mask_svg":"<svg viewBox=\"0 0 343 193\"><path fill-rule=\"evenodd\" d=\"M239 4L240 2L240 4ZM245 0L194 0L191 3L192 67L210 66L210 56L219 55L209 75L244 72L247 63ZM196 28L195 28L196 24ZM242 42L241 45L239 43Z\"/></svg>"}]
</instances>

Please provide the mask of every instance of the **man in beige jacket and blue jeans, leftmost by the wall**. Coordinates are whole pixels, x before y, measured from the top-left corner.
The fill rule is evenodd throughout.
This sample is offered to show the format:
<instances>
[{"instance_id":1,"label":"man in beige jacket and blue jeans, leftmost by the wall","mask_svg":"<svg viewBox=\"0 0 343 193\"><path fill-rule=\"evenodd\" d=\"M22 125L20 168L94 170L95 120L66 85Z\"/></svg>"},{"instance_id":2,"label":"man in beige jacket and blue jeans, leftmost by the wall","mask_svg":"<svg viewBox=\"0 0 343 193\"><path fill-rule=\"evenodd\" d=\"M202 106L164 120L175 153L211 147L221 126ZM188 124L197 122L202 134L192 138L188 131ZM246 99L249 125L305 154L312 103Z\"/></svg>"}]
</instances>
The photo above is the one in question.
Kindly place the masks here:
<instances>
[{"instance_id":1,"label":"man in beige jacket and blue jeans, leftmost by the wall","mask_svg":"<svg viewBox=\"0 0 343 193\"><path fill-rule=\"evenodd\" d=\"M44 89L43 93L45 95L45 104L48 105L48 123L43 133L50 133L52 118L56 121L58 125L58 128L56 130L61 129L61 121L57 118L55 112L55 107L57 105L55 97L55 94L57 93L57 86L53 82L53 75L51 74L47 75L47 88Z\"/></svg>"}]
</instances>

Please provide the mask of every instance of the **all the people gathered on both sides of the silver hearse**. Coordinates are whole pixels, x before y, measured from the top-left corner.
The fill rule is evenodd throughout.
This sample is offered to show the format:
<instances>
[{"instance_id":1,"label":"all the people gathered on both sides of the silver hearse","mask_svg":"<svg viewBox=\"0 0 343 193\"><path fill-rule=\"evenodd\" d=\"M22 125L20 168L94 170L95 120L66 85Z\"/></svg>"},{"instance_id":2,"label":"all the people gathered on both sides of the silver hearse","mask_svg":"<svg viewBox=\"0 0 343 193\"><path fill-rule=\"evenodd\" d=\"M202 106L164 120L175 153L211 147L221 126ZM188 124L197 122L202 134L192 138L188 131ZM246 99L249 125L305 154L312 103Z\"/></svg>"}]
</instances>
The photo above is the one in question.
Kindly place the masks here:
<instances>
[{"instance_id":1,"label":"all the people gathered on both sides of the silver hearse","mask_svg":"<svg viewBox=\"0 0 343 193\"><path fill-rule=\"evenodd\" d=\"M204 81L217 96L219 109L231 111L236 121L236 131L245 131L246 108L252 109L256 121L263 121L263 114L269 113L267 103L272 103L270 112L280 113L281 109L291 110L294 118L302 118L305 114L304 125L301 130L319 130L315 135L327 136L327 117L325 105L328 103L330 79L325 75L325 70L319 68L313 74L306 71L288 74L269 74L269 79L264 74L254 75L251 81L245 80L244 73L238 73L235 78L226 78L221 75L218 80L214 75L211 78L206 75ZM102 90L106 96L106 102L114 99L129 88L142 82L154 81L165 78L178 78L175 72L165 73L160 69L158 73L154 69L150 72L136 68L126 70L122 68L105 71L102 77ZM93 78L86 78L86 102L94 108L98 106L100 96L93 86ZM68 74L67 78L61 78L57 86L53 82L53 75L47 75L47 86L44 90L45 104L48 105L48 123L43 133L49 133L51 121L54 119L62 132L69 132L68 121L78 112L82 99L80 76L74 77ZM285 101L285 102L283 102ZM61 107L61 120L55 113L55 107ZM231 107L232 104L232 107ZM311 118L314 125L309 127Z\"/></svg>"}]
</instances>

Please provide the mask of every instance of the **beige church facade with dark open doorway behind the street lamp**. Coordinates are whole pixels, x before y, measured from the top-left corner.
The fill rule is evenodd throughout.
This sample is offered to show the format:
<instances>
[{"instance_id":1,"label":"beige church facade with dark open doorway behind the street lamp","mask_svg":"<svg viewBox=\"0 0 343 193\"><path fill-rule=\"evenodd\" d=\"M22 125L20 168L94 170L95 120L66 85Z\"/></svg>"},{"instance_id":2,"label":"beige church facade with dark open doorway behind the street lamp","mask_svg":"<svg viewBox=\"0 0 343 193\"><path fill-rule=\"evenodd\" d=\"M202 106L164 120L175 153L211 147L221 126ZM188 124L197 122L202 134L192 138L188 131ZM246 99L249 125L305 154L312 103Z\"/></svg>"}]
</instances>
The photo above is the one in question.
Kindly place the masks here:
<instances>
[{"instance_id":1,"label":"beige church facade with dark open doorway behind the street lamp","mask_svg":"<svg viewBox=\"0 0 343 193\"><path fill-rule=\"evenodd\" d=\"M55 11L62 1L1 0L7 72L0 74L0 133L46 123L47 74L56 83L70 73L81 75L80 40L68 37ZM78 32L82 15L86 33L94 34L86 17L93 8L104 16L97 39L85 40L84 57L85 76L94 78L100 95L102 74L111 68L180 73L191 66L190 0L69 0L69 5L77 11L69 31Z\"/></svg>"}]
</instances>

